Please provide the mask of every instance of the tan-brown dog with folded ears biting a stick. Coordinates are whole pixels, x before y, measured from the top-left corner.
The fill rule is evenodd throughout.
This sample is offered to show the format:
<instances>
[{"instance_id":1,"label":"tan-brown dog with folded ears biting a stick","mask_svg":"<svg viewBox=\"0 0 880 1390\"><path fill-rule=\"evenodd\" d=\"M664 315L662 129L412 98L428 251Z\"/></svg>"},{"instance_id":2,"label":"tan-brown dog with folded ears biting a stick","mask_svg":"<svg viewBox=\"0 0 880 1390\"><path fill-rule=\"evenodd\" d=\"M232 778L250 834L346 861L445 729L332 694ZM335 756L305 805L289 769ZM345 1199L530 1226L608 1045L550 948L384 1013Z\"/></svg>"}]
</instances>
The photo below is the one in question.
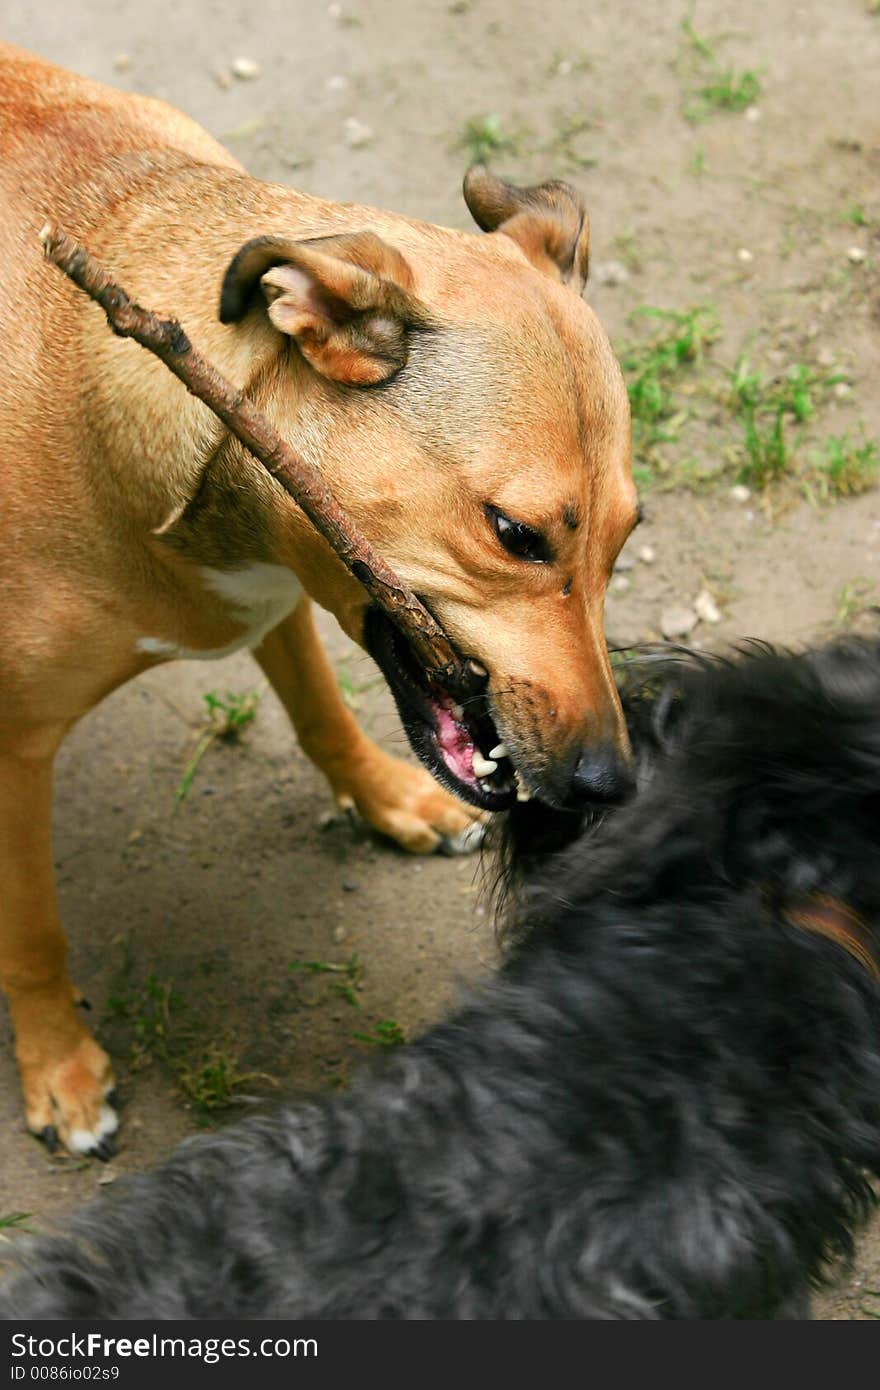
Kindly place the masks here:
<instances>
[{"instance_id":1,"label":"tan-brown dog with folded ears biting a stick","mask_svg":"<svg viewBox=\"0 0 880 1390\"><path fill-rule=\"evenodd\" d=\"M626 781L603 599L637 506L626 389L580 297L587 220L563 183L471 171L464 192L492 235L257 182L163 103L0 47L0 979L50 1144L100 1154L115 1129L49 827L61 739L122 681L252 646L336 799L416 852L517 777L557 803ZM485 667L473 709L425 682L217 418L43 261L47 217L320 464ZM375 656L434 778L357 728L310 599Z\"/></svg>"}]
</instances>

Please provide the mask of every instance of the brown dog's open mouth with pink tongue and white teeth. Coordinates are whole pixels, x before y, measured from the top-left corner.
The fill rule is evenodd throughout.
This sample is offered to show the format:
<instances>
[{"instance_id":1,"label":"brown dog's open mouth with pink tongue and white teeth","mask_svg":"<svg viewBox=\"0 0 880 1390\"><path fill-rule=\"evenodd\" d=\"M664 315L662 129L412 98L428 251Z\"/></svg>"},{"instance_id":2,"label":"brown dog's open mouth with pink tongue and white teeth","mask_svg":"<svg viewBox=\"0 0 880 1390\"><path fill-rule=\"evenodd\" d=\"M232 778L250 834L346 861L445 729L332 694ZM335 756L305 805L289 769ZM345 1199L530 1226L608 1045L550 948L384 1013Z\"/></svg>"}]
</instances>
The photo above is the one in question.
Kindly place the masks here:
<instances>
[{"instance_id":1,"label":"brown dog's open mouth with pink tongue and white teeth","mask_svg":"<svg viewBox=\"0 0 880 1390\"><path fill-rule=\"evenodd\" d=\"M517 774L489 713L488 691L466 703L428 680L409 644L380 609L370 607L364 644L395 698L414 752L439 783L484 810L517 798Z\"/></svg>"}]
</instances>

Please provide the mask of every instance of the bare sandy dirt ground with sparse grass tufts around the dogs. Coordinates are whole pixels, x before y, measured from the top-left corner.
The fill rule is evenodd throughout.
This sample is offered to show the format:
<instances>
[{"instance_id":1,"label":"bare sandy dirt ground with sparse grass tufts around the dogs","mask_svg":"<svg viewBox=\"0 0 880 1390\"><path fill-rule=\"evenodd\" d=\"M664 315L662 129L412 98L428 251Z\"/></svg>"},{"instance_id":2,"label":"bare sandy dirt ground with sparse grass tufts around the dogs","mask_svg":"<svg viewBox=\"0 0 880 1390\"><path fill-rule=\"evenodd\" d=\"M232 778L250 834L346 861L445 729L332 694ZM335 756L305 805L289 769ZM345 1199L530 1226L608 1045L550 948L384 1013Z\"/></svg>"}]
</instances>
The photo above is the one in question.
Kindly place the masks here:
<instances>
[{"instance_id":1,"label":"bare sandy dirt ground with sparse grass tufts around the dogs","mask_svg":"<svg viewBox=\"0 0 880 1390\"><path fill-rule=\"evenodd\" d=\"M480 150L519 182L577 183L592 220L587 297L624 353L642 345L631 379L656 335L715 325L638 427L646 521L612 582L609 635L658 637L705 589L720 620L703 607L688 639L723 648L823 637L880 600L880 491L836 493L867 481L880 439L877 10L3 0L0 33L167 99L254 175L323 196L467 227L460 178ZM239 58L256 72L236 76ZM633 317L639 306L685 318ZM749 371L763 382L751 407ZM795 379L801 421L773 407ZM784 481L763 488L774 467ZM749 491L733 493L744 468ZM375 667L324 630L360 717L402 748ZM204 695L259 681L246 655L168 666L106 701L63 751L61 908L118 1062L122 1140L108 1168L49 1158L24 1131L4 1048L0 1215L46 1225L254 1095L341 1084L377 1045L356 1034L393 1034L388 1020L412 1034L494 960L478 862L410 859L324 824L328 791L271 694L238 742L210 744L177 799ZM292 969L303 962L341 969ZM880 1316L880 1226L817 1315Z\"/></svg>"}]
</instances>

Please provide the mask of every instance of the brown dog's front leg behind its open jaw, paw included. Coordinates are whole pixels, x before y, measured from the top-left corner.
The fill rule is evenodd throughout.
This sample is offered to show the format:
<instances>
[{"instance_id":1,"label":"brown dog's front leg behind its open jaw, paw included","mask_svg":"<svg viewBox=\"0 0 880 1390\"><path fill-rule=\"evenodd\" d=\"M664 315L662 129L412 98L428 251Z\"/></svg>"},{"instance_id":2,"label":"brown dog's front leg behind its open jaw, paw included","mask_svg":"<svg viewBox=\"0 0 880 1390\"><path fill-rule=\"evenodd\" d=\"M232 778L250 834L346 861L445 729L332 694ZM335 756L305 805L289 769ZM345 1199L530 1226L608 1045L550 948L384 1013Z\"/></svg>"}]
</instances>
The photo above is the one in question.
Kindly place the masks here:
<instances>
[{"instance_id":1,"label":"brown dog's front leg behind its open jaw, paw included","mask_svg":"<svg viewBox=\"0 0 880 1390\"><path fill-rule=\"evenodd\" d=\"M311 602L296 609L254 651L286 709L300 746L321 769L339 806L356 806L367 824L412 853L475 847L480 812L450 796L421 767L384 753L346 709Z\"/></svg>"}]
</instances>

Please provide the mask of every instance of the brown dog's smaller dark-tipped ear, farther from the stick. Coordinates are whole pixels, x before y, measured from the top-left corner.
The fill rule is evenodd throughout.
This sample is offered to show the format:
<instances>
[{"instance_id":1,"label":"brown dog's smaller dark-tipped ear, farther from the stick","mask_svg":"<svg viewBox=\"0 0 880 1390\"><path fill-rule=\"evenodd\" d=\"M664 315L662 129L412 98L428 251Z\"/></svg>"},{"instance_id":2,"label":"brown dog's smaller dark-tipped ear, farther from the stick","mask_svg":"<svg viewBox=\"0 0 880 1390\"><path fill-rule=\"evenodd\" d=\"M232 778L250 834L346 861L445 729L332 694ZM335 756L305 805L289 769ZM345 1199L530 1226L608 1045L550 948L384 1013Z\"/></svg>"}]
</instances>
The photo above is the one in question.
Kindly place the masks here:
<instances>
[{"instance_id":1,"label":"brown dog's smaller dark-tipped ear, farther from the stick","mask_svg":"<svg viewBox=\"0 0 880 1390\"><path fill-rule=\"evenodd\" d=\"M545 275L562 279L580 295L589 264L589 221L569 183L552 179L517 188L471 164L464 175L464 202L484 232L503 232Z\"/></svg>"}]
</instances>

